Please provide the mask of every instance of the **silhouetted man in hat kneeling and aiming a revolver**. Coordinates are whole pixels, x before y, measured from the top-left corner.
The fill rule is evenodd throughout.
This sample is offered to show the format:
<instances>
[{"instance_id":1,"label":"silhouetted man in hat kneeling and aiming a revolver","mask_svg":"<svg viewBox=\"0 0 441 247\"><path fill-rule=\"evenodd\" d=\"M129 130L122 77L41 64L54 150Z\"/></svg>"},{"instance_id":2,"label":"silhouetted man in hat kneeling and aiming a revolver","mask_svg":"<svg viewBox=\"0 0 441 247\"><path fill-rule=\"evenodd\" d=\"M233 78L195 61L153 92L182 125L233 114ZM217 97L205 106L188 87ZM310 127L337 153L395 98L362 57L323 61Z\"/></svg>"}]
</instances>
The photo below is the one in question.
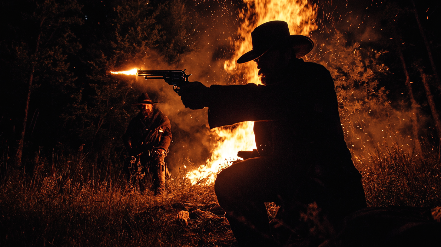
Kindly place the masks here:
<instances>
[{"instance_id":1,"label":"silhouetted man in hat kneeling and aiming a revolver","mask_svg":"<svg viewBox=\"0 0 441 247\"><path fill-rule=\"evenodd\" d=\"M210 128L255 121L260 157L220 172L215 192L239 246L275 246L264 202L294 209L316 202L338 227L366 198L344 141L333 79L325 67L300 59L313 41L290 35L283 21L266 22L251 37L253 50L237 63L254 60L263 85L190 82L179 95L190 109L208 107ZM291 218L294 229L299 217Z\"/></svg>"}]
</instances>

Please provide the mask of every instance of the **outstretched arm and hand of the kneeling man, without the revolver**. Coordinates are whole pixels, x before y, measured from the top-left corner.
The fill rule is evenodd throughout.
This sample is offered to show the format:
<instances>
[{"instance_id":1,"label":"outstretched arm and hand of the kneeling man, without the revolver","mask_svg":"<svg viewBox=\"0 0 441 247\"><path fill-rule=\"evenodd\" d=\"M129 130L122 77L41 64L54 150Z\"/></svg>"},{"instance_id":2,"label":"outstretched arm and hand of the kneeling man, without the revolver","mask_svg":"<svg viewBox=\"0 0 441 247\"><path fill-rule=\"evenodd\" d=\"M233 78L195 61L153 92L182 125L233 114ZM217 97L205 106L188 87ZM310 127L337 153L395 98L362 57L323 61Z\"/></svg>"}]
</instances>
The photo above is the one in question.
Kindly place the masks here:
<instances>
[{"instance_id":1,"label":"outstretched arm and hand of the kneeling man, without the revolver","mask_svg":"<svg viewBox=\"0 0 441 247\"><path fill-rule=\"evenodd\" d=\"M188 85L188 86L187 86ZM179 91L183 104L190 109L209 108L210 128L243 121L277 120L287 115L289 91L281 85L204 86L201 82L190 82ZM288 97L289 96L289 97Z\"/></svg>"}]
</instances>

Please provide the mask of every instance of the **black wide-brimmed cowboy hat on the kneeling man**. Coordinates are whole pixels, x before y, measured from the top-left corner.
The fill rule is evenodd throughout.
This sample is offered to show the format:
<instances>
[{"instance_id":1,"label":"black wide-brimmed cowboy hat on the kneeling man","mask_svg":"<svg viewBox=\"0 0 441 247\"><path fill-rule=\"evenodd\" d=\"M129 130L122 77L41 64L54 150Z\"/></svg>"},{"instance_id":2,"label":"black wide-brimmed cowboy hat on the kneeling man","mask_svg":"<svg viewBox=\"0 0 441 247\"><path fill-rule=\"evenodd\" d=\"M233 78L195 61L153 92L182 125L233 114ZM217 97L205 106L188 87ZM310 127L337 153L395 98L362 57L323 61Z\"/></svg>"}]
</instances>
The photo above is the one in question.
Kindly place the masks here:
<instances>
[{"instance_id":1,"label":"black wide-brimmed cowboy hat on the kneeling man","mask_svg":"<svg viewBox=\"0 0 441 247\"><path fill-rule=\"evenodd\" d=\"M294 48L295 57L301 58L314 48L314 41L303 35L289 35L288 23L284 21L265 22L251 32L253 49L237 60L238 64L262 56L275 45L290 45Z\"/></svg>"}]
</instances>

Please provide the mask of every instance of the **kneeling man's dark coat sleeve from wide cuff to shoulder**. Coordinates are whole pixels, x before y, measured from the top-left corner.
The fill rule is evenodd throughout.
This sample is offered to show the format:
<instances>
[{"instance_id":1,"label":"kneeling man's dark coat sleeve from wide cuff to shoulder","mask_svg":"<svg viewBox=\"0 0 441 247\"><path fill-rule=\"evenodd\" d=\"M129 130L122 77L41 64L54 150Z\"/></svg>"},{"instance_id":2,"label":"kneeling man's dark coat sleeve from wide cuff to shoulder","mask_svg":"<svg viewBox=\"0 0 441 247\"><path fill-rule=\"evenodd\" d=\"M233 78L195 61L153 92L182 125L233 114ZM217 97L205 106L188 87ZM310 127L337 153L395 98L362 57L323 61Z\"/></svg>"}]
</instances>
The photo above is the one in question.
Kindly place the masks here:
<instances>
[{"instance_id":1,"label":"kneeling man's dark coat sleeve from wide cuff to shoulder","mask_svg":"<svg viewBox=\"0 0 441 247\"><path fill-rule=\"evenodd\" d=\"M336 100L333 79L325 67L304 63L289 74L292 76L282 82L267 86L210 86L209 127L290 117L305 119L313 116L316 109L329 105L329 97Z\"/></svg>"}]
</instances>

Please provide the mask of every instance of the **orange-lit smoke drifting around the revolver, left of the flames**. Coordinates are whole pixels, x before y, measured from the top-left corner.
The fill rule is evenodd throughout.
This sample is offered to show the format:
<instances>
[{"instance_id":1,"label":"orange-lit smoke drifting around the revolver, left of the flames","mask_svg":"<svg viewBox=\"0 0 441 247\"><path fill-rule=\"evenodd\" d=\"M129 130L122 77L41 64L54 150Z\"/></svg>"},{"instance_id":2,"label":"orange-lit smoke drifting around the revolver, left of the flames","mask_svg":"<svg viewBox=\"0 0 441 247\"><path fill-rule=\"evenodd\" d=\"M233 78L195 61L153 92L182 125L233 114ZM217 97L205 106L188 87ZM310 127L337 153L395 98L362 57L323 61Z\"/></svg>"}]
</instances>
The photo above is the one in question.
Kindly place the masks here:
<instances>
[{"instance_id":1,"label":"orange-lit smoke drifting around the revolver, left of the flames","mask_svg":"<svg viewBox=\"0 0 441 247\"><path fill-rule=\"evenodd\" d=\"M199 81L206 86L231 84L223 64L233 54L231 37L239 25L235 16L237 7L219 5L211 7L212 11L198 15L197 21L200 25L194 32L196 35L191 38L195 40L194 49L181 56L175 64L169 64L163 56L149 50L146 58L138 61L138 64L133 64L133 67L142 70L185 69L187 75L191 74L190 81ZM213 12L217 15L210 15ZM170 119L173 138L166 162L172 173L183 170L187 172L185 167L192 163L193 168L205 164L219 139L209 130L207 109L186 109L178 94L172 90L172 86L163 80L145 80L143 77L137 77L134 83L147 92L153 101L160 101L154 107ZM188 171L190 170L188 167Z\"/></svg>"}]
</instances>

